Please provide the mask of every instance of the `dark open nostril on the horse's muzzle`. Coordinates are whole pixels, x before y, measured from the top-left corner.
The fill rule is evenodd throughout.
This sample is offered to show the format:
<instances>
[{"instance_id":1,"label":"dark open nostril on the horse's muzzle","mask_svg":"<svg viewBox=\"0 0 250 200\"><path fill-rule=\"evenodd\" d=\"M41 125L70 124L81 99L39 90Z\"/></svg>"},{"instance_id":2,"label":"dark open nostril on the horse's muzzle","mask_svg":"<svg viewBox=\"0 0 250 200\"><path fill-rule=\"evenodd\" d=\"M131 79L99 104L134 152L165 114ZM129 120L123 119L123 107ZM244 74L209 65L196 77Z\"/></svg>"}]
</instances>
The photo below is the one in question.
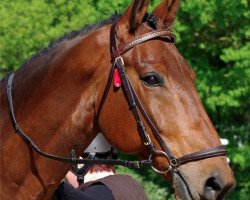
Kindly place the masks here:
<instances>
[{"instance_id":1,"label":"dark open nostril on the horse's muzzle","mask_svg":"<svg viewBox=\"0 0 250 200\"><path fill-rule=\"evenodd\" d=\"M222 182L216 176L207 179L204 187L204 199L214 200L218 199L220 193L222 192Z\"/></svg>"}]
</instances>

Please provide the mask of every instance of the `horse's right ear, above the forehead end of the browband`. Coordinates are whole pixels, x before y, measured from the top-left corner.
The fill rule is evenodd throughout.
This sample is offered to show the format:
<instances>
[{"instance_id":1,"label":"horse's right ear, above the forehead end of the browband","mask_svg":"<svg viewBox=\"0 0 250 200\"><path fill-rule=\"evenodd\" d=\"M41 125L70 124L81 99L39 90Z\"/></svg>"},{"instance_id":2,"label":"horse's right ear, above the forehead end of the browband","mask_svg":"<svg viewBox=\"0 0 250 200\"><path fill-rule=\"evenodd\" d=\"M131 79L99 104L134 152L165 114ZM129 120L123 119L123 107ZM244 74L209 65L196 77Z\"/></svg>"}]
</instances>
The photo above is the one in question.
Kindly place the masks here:
<instances>
[{"instance_id":1,"label":"horse's right ear, above the forehead end of the browband","mask_svg":"<svg viewBox=\"0 0 250 200\"><path fill-rule=\"evenodd\" d=\"M172 29L180 0L164 0L152 12L157 18L157 28Z\"/></svg>"}]
</instances>

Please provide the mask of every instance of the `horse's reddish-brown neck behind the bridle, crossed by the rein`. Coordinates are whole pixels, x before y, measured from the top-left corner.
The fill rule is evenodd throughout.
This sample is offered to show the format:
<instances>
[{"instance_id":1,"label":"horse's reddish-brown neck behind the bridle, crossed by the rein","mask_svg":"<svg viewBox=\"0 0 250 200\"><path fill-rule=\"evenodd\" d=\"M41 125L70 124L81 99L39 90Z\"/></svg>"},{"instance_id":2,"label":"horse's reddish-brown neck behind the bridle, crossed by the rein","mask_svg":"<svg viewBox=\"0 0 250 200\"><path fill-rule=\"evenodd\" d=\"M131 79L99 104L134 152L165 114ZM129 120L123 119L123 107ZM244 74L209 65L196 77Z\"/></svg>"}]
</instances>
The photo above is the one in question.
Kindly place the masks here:
<instances>
[{"instance_id":1,"label":"horse's reddish-brown neck behind the bridle, crossed by the rein","mask_svg":"<svg viewBox=\"0 0 250 200\"><path fill-rule=\"evenodd\" d=\"M70 42L62 44L64 49L60 54L60 49L54 49L16 72L13 100L17 122L43 151L65 156L74 148L79 154L93 139L96 98L103 89L100 83L106 83L109 71L104 70L109 67L108 41L108 31L102 28L72 41L74 45ZM11 159L11 166L18 166L21 173L16 176L15 167L2 166L2 169L9 177L15 177L11 180L14 183L33 184L34 194L42 195L44 199L43 192L53 191L70 165L37 156L14 134L3 90L1 87L1 110L4 110L1 130L8 136L1 143L3 146L6 143L15 145L6 145L1 154L11 152L17 156L18 159ZM8 159L2 161L7 163ZM19 190L28 187L25 184L18 186Z\"/></svg>"}]
</instances>

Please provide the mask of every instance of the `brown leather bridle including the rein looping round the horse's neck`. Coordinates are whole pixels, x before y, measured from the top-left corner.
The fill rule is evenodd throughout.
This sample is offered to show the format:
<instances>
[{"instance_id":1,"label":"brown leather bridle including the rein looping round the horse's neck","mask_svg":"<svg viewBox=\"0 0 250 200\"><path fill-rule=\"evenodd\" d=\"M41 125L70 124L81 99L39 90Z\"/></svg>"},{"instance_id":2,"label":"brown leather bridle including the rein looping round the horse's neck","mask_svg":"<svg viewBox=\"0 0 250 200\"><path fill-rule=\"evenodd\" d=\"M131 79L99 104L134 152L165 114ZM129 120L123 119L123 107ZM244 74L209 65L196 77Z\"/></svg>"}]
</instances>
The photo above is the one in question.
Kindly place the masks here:
<instances>
[{"instance_id":1,"label":"brown leather bridle including the rein looping round the horse's neck","mask_svg":"<svg viewBox=\"0 0 250 200\"><path fill-rule=\"evenodd\" d=\"M32 149L34 149L37 153L40 155L57 160L62 162L68 162L72 163L73 165L76 164L111 164L111 165L122 165L125 167L131 167L131 168L141 168L141 167L152 167L156 172L158 173L167 173L167 172L174 172L180 165L183 165L188 162L197 161L201 159L206 159L210 157L216 157L216 156L225 156L226 155L226 149L224 146L217 146L213 148L209 148L206 150L201 150L195 153L187 154L182 157L175 157L170 148L168 147L167 143L164 142L162 137L160 136L159 132L157 131L156 127L150 120L149 116L147 115L143 105L141 104L131 82L129 81L129 78L126 74L125 67L124 67L124 61L121 57L122 54L130 50L131 48L135 47L138 44L144 43L148 40L152 39L161 39L165 38L169 41L172 41L174 38L174 33L170 30L155 30L151 31L149 33L146 33L138 38L133 39L132 41L128 42L127 44L123 45L122 47L117 47L117 38L116 38L116 32L115 32L115 26L116 22L112 24L111 31L110 31L110 44L111 44L111 57L112 57L112 67L109 73L107 85L105 87L102 99L100 101L100 105L98 107L97 111L97 119L99 118L99 115L101 113L101 110L103 108L103 105L105 103L105 100L108 95L108 91L112 84L113 74L114 70L117 69L122 81L122 87L124 91L124 95L126 96L126 99L128 101L128 105L130 110L133 113L133 116L135 118L136 124L137 124L137 130L140 134L140 137L144 143L145 146L148 147L150 156L148 160L140 160L140 161L126 161L126 160L104 160L104 159L77 159L75 155L75 151L71 151L71 157L61 157L53 154L46 153L42 150L40 150L37 145L22 131L22 129L19 127L15 114L14 114L14 108L13 108L13 98L12 98L12 82L14 78L14 74L11 74L8 78L8 83L6 86L7 89L7 98L8 98L8 106L9 106L9 113L11 116L12 125L15 129L15 132L19 134L19 136L28 144L31 146ZM155 145L152 143L149 134L146 131L146 128L143 124L143 121L140 117L144 118L147 125L150 127L154 138L157 140L157 142L160 144L162 150L157 150L155 148ZM153 159L157 156L165 157L169 162L169 167L162 171L157 169L153 165Z\"/></svg>"}]
</instances>

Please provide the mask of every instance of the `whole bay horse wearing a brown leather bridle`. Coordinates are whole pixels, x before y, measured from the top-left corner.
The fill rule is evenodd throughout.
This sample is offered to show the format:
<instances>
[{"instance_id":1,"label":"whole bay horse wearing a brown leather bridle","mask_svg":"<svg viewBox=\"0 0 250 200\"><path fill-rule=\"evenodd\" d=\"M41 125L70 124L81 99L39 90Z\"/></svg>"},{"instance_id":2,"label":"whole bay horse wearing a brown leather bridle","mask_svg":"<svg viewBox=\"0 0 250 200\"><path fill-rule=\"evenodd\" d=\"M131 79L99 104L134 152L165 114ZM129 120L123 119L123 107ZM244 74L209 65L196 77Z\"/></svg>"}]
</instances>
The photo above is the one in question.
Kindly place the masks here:
<instances>
[{"instance_id":1,"label":"whole bay horse wearing a brown leather bridle","mask_svg":"<svg viewBox=\"0 0 250 200\"><path fill-rule=\"evenodd\" d=\"M20 130L60 156L80 155L102 132L118 150L149 158L176 199L223 199L232 189L195 73L174 44L179 0L151 14L148 6L132 1L124 14L54 42L1 81L2 200L50 199L71 167L35 152Z\"/></svg>"}]
</instances>

